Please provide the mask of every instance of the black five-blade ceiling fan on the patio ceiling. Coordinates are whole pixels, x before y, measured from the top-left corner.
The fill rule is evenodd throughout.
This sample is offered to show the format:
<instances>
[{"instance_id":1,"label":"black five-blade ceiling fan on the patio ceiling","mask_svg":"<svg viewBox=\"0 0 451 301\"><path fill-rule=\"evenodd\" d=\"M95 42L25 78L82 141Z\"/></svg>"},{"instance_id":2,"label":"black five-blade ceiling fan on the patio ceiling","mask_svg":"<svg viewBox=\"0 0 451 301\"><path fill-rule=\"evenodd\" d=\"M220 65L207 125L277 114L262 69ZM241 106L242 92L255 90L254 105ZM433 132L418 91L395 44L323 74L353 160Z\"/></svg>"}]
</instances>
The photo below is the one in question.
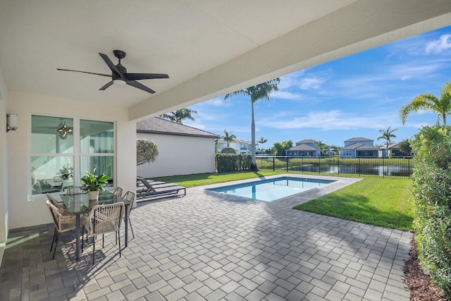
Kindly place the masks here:
<instances>
[{"instance_id":1,"label":"black five-blade ceiling fan on the patio ceiling","mask_svg":"<svg viewBox=\"0 0 451 301\"><path fill-rule=\"evenodd\" d=\"M106 90L107 87L114 84L118 85L130 85L132 87L138 88L140 90L143 90L145 92L149 92L151 94L154 94L155 91L150 89L149 87L146 87L142 85L142 83L137 82L137 80L152 80L154 78L169 78L167 74L160 74L160 73L127 73L127 69L121 65L121 59L125 58L125 52L122 50L113 50L114 56L119 59L119 63L117 65L114 65L111 59L106 54L100 54L102 59L104 59L106 65L111 69L111 75L109 74L101 74L101 73L92 73L87 71L78 71L78 70L68 70L68 69L59 69L61 71L73 71L73 72L80 72L80 73L87 73L87 74L94 74L94 75L101 75L101 76L107 76L111 78L110 82L107 82L106 85L101 87L99 90Z\"/></svg>"}]
</instances>

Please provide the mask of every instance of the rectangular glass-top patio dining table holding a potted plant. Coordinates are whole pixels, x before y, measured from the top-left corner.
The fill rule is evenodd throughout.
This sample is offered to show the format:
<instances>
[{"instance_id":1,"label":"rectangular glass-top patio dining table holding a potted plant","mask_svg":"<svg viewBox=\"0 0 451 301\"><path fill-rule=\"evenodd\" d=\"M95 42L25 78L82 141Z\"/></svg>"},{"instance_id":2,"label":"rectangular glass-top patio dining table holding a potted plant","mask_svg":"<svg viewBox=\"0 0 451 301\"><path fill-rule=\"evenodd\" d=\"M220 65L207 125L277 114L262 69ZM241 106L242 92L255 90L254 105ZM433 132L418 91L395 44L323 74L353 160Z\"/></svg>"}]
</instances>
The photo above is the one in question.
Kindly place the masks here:
<instances>
[{"instance_id":1,"label":"rectangular glass-top patio dining table holding a potted plant","mask_svg":"<svg viewBox=\"0 0 451 301\"><path fill-rule=\"evenodd\" d=\"M68 211L75 215L75 258L80 260L80 215L89 214L89 211L94 205L97 204L113 204L116 202L123 202L125 204L125 247L128 247L128 218L130 214L130 205L132 202L127 199L123 199L118 195L106 191L99 193L99 201L89 201L87 193L82 195L60 195Z\"/></svg>"}]
</instances>

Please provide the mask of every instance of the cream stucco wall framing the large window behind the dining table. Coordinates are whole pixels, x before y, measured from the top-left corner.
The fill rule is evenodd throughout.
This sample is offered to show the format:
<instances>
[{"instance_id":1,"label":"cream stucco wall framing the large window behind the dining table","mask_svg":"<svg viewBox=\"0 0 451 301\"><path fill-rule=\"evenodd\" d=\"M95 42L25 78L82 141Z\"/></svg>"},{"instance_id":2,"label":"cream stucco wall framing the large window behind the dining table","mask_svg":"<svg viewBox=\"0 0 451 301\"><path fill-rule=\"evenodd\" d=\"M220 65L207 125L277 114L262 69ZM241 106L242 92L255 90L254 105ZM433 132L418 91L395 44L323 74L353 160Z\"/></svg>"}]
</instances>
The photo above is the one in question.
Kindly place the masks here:
<instances>
[{"instance_id":1,"label":"cream stucco wall framing the large window behind the dining table","mask_svg":"<svg viewBox=\"0 0 451 301\"><path fill-rule=\"evenodd\" d=\"M28 195L32 114L115 122L115 184L136 190L136 123L128 121L127 108L11 91L8 104L11 112L18 113L18 130L6 135L10 229L51 223L45 195Z\"/></svg>"}]
</instances>

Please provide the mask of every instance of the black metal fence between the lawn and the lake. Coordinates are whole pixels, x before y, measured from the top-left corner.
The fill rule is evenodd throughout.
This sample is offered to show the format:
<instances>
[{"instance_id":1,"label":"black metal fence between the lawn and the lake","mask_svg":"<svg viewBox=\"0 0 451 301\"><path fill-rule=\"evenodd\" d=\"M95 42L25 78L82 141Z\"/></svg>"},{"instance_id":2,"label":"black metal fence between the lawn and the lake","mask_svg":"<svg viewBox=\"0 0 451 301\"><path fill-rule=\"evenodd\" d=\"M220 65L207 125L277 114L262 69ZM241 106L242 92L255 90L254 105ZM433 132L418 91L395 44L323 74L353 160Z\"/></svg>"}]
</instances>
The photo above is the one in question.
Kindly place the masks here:
<instances>
[{"instance_id":1,"label":"black metal fence between the lawn and the lake","mask_svg":"<svg viewBox=\"0 0 451 301\"><path fill-rule=\"evenodd\" d=\"M409 177L414 168L412 159L404 158L257 156L256 163L260 170L381 177Z\"/></svg>"}]
</instances>

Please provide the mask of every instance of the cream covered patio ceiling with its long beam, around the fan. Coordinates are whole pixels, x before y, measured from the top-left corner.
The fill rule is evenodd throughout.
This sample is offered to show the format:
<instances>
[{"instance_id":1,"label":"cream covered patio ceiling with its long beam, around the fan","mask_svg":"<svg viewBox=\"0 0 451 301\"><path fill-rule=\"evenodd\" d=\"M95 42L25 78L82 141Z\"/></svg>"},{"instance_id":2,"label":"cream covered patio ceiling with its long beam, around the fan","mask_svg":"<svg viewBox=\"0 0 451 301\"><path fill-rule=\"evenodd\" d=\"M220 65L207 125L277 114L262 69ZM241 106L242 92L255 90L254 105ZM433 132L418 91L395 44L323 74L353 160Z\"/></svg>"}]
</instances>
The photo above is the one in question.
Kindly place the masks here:
<instances>
[{"instance_id":1,"label":"cream covered patio ceiling with its long beam, around the fan","mask_svg":"<svg viewBox=\"0 0 451 301\"><path fill-rule=\"evenodd\" d=\"M449 0L0 0L0 81L137 121L450 24ZM110 73L114 49L170 78L99 91L109 78L56 70Z\"/></svg>"}]
</instances>

